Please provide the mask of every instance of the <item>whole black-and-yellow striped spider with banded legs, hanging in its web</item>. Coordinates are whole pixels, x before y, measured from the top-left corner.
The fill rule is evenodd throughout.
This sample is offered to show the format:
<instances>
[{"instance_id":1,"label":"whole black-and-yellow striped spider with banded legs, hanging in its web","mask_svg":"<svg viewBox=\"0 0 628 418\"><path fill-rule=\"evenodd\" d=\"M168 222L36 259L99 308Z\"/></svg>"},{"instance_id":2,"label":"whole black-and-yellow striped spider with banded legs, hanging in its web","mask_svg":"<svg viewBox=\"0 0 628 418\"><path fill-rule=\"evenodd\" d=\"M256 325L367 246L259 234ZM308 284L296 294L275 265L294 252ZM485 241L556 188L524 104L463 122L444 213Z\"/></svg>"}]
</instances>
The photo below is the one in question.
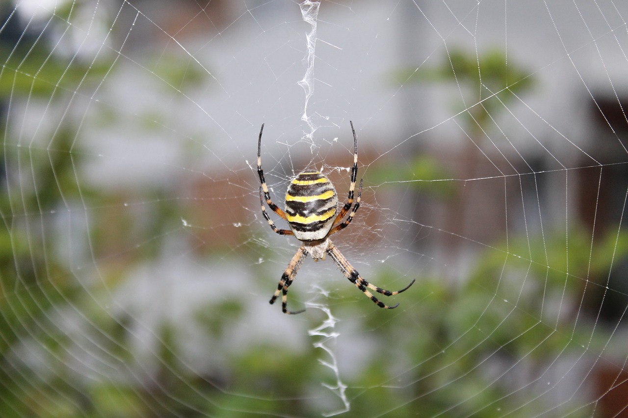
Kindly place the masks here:
<instances>
[{"instance_id":1,"label":"whole black-and-yellow striped spider with banded legs, hanging in its web","mask_svg":"<svg viewBox=\"0 0 628 418\"><path fill-rule=\"evenodd\" d=\"M377 297L373 296L369 289L381 293L384 296L391 296L406 291L408 287L412 286L414 283L413 280L400 291L391 292L367 282L352 265L349 264L349 261L345 259L344 255L342 255L340 250L338 250L329 239L329 236L333 233L349 226L354 218L355 212L357 212L360 207L362 180L360 180L360 188L357 192L354 205L355 179L357 178L357 137L355 137L353 122L350 122L350 124L354 135L354 164L351 169L349 197L337 214L338 195L329 179L318 171L303 171L291 181L288 187L288 193L286 193L285 211L281 210L273 203L268 191L268 186L266 185L266 180L264 180L264 171L262 170L261 144L264 124L262 124L262 128L259 130L259 139L257 141L257 174L259 175L259 181L261 183L259 188L259 201L262 205L262 214L274 232L279 235L294 235L303 243L296 251L295 256L292 257L292 260L290 260L290 264L288 264L288 268L281 276L277 290L270 300L270 303L273 304L277 297L279 297L279 294L282 294L281 311L283 311L283 313L298 314L305 311L305 309L301 309L300 311L291 312L288 311L287 305L288 287L290 287L295 280L296 273L299 271L308 254L311 254L314 261L324 260L325 254L329 254L333 262L335 262L340 271L342 271L342 274L380 308L393 309L399 304L387 306L379 301ZM268 213L266 213L264 200L266 201L266 205L268 205L274 213L288 222L290 226L289 230L279 229L274 225L273 220L271 220ZM353 206L353 209L347 219L343 221L342 219L347 215L351 206Z\"/></svg>"}]
</instances>

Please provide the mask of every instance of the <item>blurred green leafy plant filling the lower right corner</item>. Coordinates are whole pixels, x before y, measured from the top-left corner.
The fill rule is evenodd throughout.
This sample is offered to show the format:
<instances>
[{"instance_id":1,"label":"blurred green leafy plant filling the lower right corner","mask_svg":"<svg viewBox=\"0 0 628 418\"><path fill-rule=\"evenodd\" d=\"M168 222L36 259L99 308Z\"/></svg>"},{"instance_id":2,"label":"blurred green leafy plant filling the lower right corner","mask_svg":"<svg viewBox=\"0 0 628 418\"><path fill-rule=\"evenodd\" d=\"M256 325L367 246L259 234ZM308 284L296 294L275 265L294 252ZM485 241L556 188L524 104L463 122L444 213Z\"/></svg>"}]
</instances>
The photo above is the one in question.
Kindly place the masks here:
<instances>
[{"instance_id":1,"label":"blurred green leafy plant filling the lower right corner","mask_svg":"<svg viewBox=\"0 0 628 418\"><path fill-rule=\"evenodd\" d=\"M596 278L608 275L612 258L628 256L626 234L600 237L594 249L600 257L591 265L586 230L574 228L569 247L565 242L560 233L511 237L510 255L497 250L499 245L486 250L466 281L455 285L421 277L404 293L414 303L402 301L403 313L393 320L369 312L367 304L352 304L350 309L360 314L351 316L364 318L364 327L374 330L367 346L377 359L345 382L355 397L355 416L392 411L400 416L543 414L553 404L543 400L546 385L531 384L534 377L546 372L551 380L557 359L600 352L610 337L609 330L594 330L585 318L580 318L582 326L574 326L576 315L582 316L587 274L589 291L595 291L604 286ZM615 252L604 252L608 247ZM382 270L372 281L396 278ZM338 295L343 296L355 297L349 291ZM565 402L554 411L571 414L571 406ZM578 414L590 416L592 409Z\"/></svg>"}]
</instances>

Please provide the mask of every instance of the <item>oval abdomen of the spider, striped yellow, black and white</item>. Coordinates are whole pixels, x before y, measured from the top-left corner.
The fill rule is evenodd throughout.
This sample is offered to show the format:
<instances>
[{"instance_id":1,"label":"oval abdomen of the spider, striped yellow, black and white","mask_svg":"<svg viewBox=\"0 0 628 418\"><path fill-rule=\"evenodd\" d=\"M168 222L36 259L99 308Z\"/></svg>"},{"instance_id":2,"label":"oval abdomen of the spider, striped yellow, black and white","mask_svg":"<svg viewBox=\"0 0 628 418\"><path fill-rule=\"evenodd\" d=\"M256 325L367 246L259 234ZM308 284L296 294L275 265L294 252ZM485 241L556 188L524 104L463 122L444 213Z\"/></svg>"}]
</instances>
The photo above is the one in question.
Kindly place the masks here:
<instances>
[{"instance_id":1,"label":"oval abdomen of the spider, striped yellow, black and white","mask_svg":"<svg viewBox=\"0 0 628 418\"><path fill-rule=\"evenodd\" d=\"M338 196L332 182L318 171L296 176L286 193L286 217L301 241L322 240L332 228Z\"/></svg>"}]
</instances>

